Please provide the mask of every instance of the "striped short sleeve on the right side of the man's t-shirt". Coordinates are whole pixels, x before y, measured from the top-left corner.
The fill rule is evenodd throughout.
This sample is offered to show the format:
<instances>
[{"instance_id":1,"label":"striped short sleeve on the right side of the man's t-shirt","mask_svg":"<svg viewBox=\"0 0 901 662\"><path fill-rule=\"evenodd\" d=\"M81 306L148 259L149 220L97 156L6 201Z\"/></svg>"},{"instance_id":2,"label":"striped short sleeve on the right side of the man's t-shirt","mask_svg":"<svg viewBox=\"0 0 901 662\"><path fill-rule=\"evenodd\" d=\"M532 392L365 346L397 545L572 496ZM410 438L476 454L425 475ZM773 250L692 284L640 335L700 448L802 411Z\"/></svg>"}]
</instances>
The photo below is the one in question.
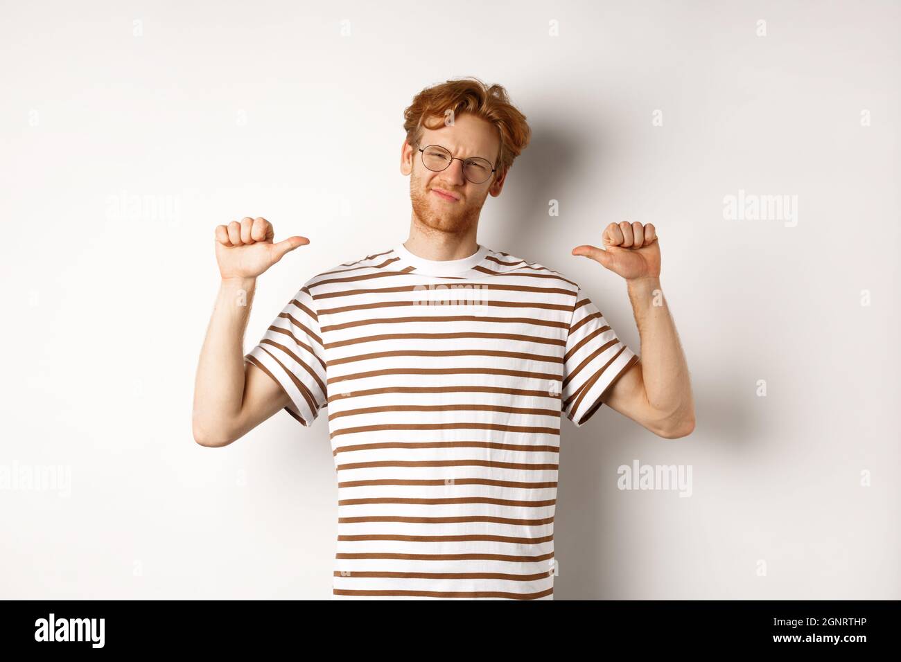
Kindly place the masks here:
<instances>
[{"instance_id":1,"label":"striped short sleeve on the right side of the man's t-shirt","mask_svg":"<svg viewBox=\"0 0 901 662\"><path fill-rule=\"evenodd\" d=\"M616 380L638 359L579 287L563 357L560 406L567 418L581 427L603 404L601 398Z\"/></svg>"}]
</instances>

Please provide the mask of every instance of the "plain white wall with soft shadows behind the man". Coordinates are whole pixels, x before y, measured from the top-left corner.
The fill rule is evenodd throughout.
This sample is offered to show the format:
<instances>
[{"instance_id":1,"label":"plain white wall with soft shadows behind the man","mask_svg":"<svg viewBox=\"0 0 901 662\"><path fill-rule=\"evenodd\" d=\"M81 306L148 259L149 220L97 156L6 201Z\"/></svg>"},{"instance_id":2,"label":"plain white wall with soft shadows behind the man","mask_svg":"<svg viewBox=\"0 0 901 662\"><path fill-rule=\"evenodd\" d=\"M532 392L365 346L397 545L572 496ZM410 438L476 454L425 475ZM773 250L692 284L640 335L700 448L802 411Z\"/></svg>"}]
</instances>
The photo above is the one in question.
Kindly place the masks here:
<instances>
[{"instance_id":1,"label":"plain white wall with soft shadows behind the man","mask_svg":"<svg viewBox=\"0 0 901 662\"><path fill-rule=\"evenodd\" d=\"M0 468L71 476L0 490L0 597L331 597L326 411L191 436L214 226L311 241L260 278L250 349L406 239L403 110L477 76L533 131L479 242L638 350L623 282L569 251L653 222L696 394L685 439L562 422L555 598L901 598L896 3L0 6ZM739 190L796 195L796 226L725 220ZM617 489L636 459L693 494Z\"/></svg>"}]
</instances>

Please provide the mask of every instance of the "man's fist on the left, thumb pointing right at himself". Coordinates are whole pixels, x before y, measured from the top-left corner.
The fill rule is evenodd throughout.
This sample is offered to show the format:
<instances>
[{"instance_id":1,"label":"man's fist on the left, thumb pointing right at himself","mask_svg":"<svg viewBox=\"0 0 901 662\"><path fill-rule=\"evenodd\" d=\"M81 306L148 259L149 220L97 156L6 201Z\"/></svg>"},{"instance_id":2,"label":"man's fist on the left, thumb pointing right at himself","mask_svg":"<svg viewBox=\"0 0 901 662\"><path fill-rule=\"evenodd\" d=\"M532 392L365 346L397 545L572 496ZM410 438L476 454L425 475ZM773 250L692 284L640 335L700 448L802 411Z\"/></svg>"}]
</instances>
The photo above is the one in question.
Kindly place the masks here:
<instances>
[{"instance_id":1,"label":"man's fist on the left, thumb pointing right at himself","mask_svg":"<svg viewBox=\"0 0 901 662\"><path fill-rule=\"evenodd\" d=\"M245 216L241 222L216 226L216 262L226 278L256 278L285 257L287 252L310 243L306 237L288 237L272 243L275 231L265 218Z\"/></svg>"}]
</instances>

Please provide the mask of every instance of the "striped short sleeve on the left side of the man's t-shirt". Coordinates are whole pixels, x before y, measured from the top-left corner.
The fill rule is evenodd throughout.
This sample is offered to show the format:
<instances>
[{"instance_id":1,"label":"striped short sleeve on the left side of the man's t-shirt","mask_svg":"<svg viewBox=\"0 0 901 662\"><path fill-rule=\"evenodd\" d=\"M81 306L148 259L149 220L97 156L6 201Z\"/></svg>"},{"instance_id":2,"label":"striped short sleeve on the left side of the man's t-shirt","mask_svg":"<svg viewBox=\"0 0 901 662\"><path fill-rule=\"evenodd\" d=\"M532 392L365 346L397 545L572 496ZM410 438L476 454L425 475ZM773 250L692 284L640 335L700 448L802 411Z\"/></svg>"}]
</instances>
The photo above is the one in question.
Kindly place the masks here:
<instances>
[{"instance_id":1,"label":"striped short sleeve on the left side of the man's t-shirt","mask_svg":"<svg viewBox=\"0 0 901 662\"><path fill-rule=\"evenodd\" d=\"M328 402L323 340L313 295L303 286L244 358L275 379L291 399L285 407L306 427Z\"/></svg>"}]
</instances>

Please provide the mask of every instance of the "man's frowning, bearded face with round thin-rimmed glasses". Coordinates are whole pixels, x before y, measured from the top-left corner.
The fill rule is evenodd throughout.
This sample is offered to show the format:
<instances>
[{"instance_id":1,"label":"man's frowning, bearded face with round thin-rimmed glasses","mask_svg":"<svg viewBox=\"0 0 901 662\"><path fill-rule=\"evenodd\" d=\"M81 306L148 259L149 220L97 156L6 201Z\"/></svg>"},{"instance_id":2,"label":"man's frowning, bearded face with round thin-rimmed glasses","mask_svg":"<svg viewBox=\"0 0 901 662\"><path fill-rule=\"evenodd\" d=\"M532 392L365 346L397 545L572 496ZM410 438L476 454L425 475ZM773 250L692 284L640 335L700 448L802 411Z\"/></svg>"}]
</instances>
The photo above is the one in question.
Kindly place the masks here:
<instances>
[{"instance_id":1,"label":"man's frowning, bearded face with round thin-rimmed glasses","mask_svg":"<svg viewBox=\"0 0 901 662\"><path fill-rule=\"evenodd\" d=\"M419 147L441 145L458 159L482 157L496 163L500 138L495 127L468 113L454 117L451 126L437 130L423 129L420 145L404 141L401 152L401 172L410 175L410 202L418 222L438 231L462 233L478 224L487 196L500 195L506 173L495 171L482 184L473 184L463 177L463 162L451 161L448 168L434 172L423 165ZM450 194L441 195L439 190Z\"/></svg>"}]
</instances>

